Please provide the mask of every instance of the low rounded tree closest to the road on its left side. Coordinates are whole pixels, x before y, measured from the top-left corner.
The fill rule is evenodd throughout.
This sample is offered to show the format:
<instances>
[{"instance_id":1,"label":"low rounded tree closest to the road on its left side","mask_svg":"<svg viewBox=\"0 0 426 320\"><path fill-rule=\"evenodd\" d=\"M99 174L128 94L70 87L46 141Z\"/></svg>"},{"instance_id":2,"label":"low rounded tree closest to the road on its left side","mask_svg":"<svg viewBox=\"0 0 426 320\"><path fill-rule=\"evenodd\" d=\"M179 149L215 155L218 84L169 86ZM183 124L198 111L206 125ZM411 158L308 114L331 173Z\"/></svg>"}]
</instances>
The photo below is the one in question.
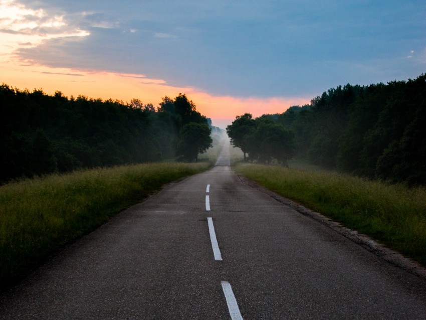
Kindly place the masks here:
<instances>
[{"instance_id":1,"label":"low rounded tree closest to the road on its left side","mask_svg":"<svg viewBox=\"0 0 426 320\"><path fill-rule=\"evenodd\" d=\"M196 162L198 153L203 153L211 147L212 142L207 124L190 122L180 129L177 155L185 161Z\"/></svg>"}]
</instances>

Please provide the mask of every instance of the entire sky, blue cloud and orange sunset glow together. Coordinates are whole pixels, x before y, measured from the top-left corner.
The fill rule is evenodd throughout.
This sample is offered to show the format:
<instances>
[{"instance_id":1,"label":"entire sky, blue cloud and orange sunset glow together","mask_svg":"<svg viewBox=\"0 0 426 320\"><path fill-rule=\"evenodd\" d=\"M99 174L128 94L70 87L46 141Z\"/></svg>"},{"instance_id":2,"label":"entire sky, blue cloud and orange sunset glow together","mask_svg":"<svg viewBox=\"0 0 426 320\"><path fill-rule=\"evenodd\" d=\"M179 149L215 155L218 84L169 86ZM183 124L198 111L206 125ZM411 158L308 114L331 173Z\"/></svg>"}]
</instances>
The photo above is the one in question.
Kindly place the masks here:
<instances>
[{"instance_id":1,"label":"entire sky, blue cloud and orange sunset glow together","mask_svg":"<svg viewBox=\"0 0 426 320\"><path fill-rule=\"evenodd\" d=\"M223 128L425 72L424 0L0 0L0 83L154 106L185 93Z\"/></svg>"}]
</instances>

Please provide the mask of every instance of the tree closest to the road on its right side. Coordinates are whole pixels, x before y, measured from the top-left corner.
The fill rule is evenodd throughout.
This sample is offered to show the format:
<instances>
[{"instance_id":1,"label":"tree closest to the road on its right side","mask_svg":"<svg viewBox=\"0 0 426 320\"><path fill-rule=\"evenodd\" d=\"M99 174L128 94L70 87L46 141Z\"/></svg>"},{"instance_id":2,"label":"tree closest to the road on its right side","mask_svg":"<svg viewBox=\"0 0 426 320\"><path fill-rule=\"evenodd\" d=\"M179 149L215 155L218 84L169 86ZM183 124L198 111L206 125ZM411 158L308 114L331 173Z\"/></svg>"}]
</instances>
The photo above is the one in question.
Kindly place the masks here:
<instances>
[{"instance_id":1,"label":"tree closest to the road on its right side","mask_svg":"<svg viewBox=\"0 0 426 320\"><path fill-rule=\"evenodd\" d=\"M227 134L231 138L231 143L239 147L244 153L244 161L247 161L246 153L249 150L248 136L256 129L255 120L250 113L238 115L232 124L227 126Z\"/></svg>"}]
</instances>

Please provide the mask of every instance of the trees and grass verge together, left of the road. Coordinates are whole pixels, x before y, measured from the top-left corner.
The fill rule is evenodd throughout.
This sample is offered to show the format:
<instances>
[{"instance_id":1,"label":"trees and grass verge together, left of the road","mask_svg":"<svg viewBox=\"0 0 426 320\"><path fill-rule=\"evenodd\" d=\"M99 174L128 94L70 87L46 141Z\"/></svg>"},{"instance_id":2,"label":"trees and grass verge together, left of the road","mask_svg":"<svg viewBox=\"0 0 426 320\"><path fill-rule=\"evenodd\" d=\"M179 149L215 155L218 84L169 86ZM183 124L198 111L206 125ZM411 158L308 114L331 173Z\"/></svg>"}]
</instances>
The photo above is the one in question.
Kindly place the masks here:
<instances>
[{"instance_id":1,"label":"trees and grass verge together, left of the road","mask_svg":"<svg viewBox=\"0 0 426 320\"><path fill-rule=\"evenodd\" d=\"M0 288L162 185L210 168L224 134L184 94L155 108L3 84L0 102Z\"/></svg>"}]
</instances>

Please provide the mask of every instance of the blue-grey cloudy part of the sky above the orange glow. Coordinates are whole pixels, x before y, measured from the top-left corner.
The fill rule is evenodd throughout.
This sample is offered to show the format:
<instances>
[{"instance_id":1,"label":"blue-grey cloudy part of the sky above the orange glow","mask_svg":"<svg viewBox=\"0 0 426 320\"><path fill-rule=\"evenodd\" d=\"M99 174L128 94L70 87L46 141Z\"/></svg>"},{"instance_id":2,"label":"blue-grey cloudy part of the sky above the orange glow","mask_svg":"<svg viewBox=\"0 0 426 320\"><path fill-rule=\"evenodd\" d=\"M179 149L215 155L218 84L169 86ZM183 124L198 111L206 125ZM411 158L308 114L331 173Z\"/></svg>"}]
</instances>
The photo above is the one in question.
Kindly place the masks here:
<instances>
[{"instance_id":1,"label":"blue-grey cloudy part of the sky above the orange glow","mask_svg":"<svg viewBox=\"0 0 426 320\"><path fill-rule=\"evenodd\" d=\"M88 33L21 46L22 61L142 74L211 96L314 98L426 71L424 0L15 2Z\"/></svg>"}]
</instances>

